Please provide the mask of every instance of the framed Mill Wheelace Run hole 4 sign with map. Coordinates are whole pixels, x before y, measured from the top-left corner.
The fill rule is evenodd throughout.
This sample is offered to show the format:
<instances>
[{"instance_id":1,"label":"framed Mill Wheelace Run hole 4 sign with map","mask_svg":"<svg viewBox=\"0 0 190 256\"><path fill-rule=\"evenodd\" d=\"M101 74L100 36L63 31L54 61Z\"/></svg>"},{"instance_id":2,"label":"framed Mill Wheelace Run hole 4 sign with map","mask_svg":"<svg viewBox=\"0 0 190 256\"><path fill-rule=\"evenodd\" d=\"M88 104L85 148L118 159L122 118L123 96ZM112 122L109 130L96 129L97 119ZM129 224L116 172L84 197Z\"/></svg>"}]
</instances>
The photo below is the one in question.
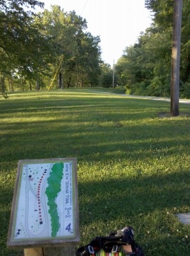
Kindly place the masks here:
<instances>
[{"instance_id":1,"label":"framed Mill Wheelace Run hole 4 sign with map","mask_svg":"<svg viewBox=\"0 0 190 256\"><path fill-rule=\"evenodd\" d=\"M79 241L77 160L20 160L8 246Z\"/></svg>"}]
</instances>

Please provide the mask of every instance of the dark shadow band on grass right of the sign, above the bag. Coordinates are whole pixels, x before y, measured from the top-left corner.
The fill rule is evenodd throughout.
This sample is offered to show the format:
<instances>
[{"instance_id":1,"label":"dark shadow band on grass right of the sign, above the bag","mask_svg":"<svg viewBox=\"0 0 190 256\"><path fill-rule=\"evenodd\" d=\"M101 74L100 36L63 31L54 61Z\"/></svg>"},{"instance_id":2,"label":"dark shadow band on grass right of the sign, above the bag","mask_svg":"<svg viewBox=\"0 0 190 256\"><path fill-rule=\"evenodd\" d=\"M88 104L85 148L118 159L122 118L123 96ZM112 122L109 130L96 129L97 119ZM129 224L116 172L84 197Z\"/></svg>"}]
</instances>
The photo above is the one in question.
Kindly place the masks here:
<instances>
[{"instance_id":1,"label":"dark shadow band on grass right of the sign, above the bag","mask_svg":"<svg viewBox=\"0 0 190 256\"><path fill-rule=\"evenodd\" d=\"M89 221L112 221L126 216L150 214L163 209L178 209L189 204L189 188L184 180L189 172L103 179L78 183L81 224Z\"/></svg>"}]
</instances>

